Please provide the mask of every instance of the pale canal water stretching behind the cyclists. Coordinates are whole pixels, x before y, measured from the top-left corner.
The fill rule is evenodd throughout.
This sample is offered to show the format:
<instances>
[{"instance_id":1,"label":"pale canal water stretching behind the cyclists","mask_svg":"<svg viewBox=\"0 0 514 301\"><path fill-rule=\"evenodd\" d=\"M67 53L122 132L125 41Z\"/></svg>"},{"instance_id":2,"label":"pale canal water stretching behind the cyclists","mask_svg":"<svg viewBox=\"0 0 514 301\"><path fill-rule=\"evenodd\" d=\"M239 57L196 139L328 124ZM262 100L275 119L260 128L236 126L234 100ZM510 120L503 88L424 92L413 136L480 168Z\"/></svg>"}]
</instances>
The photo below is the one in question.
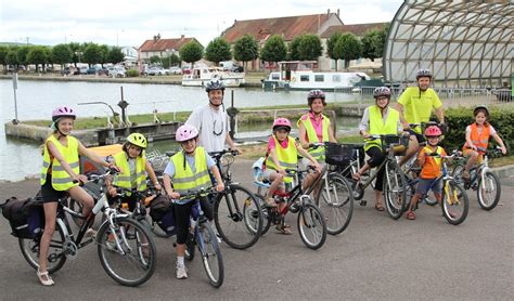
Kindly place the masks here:
<instances>
[{"instance_id":1,"label":"pale canal water stretching behind the cyclists","mask_svg":"<svg viewBox=\"0 0 514 301\"><path fill-rule=\"evenodd\" d=\"M158 112L184 112L207 103L203 89L197 87L181 87L174 84L140 84L140 83L104 83L104 82L61 82L61 81L18 81L17 116L20 120L48 119L56 106L67 105L77 110L78 116L106 116L105 105L79 105L86 102L105 102L117 112L117 103L121 99L120 87L124 89L124 99L129 103L128 114L149 114L153 109ZM231 90L226 93L224 103L230 106ZM234 105L237 108L257 108L261 106L291 105L305 106L305 91L265 92L260 89L233 89ZM327 93L326 101L349 102L355 95L343 93ZM0 181L17 181L39 172L41 165L39 143L17 140L5 136L3 123L12 120L14 113L14 92L11 80L0 80ZM338 118L338 133L357 128L357 118ZM49 122L50 123L50 122ZM240 135L266 135L270 132L269 125L253 125L240 127ZM158 142L150 145L159 150L172 148L171 142Z\"/></svg>"}]
</instances>

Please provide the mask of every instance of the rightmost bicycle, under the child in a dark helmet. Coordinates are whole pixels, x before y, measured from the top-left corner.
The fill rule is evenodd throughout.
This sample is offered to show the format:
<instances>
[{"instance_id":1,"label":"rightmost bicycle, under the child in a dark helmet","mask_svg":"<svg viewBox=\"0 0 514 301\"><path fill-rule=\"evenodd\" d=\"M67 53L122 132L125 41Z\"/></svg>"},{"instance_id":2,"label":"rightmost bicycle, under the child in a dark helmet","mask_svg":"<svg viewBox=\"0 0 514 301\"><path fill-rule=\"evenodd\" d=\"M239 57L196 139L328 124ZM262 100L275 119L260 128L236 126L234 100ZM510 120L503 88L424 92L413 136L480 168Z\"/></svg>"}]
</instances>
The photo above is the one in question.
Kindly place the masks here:
<instances>
[{"instance_id":1,"label":"rightmost bicycle, under the child in a dark helmet","mask_svg":"<svg viewBox=\"0 0 514 301\"><path fill-rule=\"evenodd\" d=\"M458 162L453 167L451 174L458 182L463 183L466 191L476 191L478 206L480 206L481 209L489 211L497 207L501 197L501 182L489 168L489 157L494 158L503 154L501 148L498 146L492 150L484 148L478 150L484 155L484 160L479 166L474 166L470 170L470 181L464 181L462 178L462 173L464 172L467 162L466 157L457 158Z\"/></svg>"}]
</instances>

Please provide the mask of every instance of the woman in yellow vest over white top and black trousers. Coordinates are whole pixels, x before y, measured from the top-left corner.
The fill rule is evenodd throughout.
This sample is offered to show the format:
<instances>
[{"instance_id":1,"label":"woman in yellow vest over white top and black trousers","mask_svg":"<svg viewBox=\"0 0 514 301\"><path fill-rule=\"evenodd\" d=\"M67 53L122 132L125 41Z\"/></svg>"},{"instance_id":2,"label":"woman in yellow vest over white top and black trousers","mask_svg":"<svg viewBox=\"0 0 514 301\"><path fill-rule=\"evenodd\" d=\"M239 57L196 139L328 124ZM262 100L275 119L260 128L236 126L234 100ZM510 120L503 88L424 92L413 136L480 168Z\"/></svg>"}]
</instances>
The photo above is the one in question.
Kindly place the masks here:
<instances>
[{"instance_id":1,"label":"woman in yellow vest over white top and black trousers","mask_svg":"<svg viewBox=\"0 0 514 301\"><path fill-rule=\"evenodd\" d=\"M359 131L364 139L369 139L373 134L400 134L402 127L399 113L389 107L390 90L387 87L378 87L373 91L375 105L364 109ZM368 162L355 173L354 180L359 181L360 176L368 169L380 166L386 155L384 154L380 140L368 141L364 150L370 156ZM378 170L375 182L375 209L384 211L382 205L382 186L384 179L384 170Z\"/></svg>"}]
</instances>

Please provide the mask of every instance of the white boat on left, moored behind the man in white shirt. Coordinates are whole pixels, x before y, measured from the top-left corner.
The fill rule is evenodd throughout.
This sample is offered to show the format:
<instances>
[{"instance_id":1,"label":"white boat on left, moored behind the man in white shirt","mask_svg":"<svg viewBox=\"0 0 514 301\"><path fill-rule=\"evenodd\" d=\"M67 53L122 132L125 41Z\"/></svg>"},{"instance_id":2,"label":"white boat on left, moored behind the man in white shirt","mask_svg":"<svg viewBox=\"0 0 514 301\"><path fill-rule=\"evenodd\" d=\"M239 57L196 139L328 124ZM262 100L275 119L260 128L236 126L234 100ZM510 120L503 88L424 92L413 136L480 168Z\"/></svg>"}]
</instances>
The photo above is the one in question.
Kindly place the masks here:
<instances>
[{"instance_id":1,"label":"white boat on left, moored behind the man in white shirt","mask_svg":"<svg viewBox=\"0 0 514 301\"><path fill-rule=\"evenodd\" d=\"M223 71L219 67L195 67L191 74L182 76L182 86L203 87L213 79L221 80L224 87L241 87L244 84L244 73Z\"/></svg>"}]
</instances>

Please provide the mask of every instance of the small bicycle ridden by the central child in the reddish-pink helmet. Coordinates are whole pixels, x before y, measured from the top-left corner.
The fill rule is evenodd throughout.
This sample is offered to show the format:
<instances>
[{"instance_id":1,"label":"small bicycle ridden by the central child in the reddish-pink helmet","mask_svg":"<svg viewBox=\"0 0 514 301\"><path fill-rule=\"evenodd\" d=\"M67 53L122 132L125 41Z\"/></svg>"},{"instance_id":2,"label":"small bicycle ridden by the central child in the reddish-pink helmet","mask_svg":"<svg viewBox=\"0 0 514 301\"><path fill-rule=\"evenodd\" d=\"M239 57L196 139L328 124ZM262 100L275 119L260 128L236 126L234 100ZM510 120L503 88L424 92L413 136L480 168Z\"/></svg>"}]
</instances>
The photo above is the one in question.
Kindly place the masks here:
<instances>
[{"instance_id":1,"label":"small bicycle ridden by the central child in the reddish-pink helmet","mask_svg":"<svg viewBox=\"0 0 514 301\"><path fill-rule=\"evenodd\" d=\"M286 170L287 176L295 176L308 172L308 170ZM260 193L262 188L269 188L269 183L264 183L260 176L256 175L254 184L257 186L256 197L264 205L265 197ZM262 235L268 232L271 224L284 225L287 212L298 213L297 226L301 241L309 249L319 249L326 239L326 223L321 210L316 206L312 198L304 192L301 181L297 179L297 183L291 191L281 193L277 191L273 199L277 202L285 201L285 206L279 211L277 207L262 207L262 213L266 224L262 228ZM316 183L314 183L316 184ZM314 186L314 185L312 185ZM309 237L311 236L311 237Z\"/></svg>"}]
</instances>

